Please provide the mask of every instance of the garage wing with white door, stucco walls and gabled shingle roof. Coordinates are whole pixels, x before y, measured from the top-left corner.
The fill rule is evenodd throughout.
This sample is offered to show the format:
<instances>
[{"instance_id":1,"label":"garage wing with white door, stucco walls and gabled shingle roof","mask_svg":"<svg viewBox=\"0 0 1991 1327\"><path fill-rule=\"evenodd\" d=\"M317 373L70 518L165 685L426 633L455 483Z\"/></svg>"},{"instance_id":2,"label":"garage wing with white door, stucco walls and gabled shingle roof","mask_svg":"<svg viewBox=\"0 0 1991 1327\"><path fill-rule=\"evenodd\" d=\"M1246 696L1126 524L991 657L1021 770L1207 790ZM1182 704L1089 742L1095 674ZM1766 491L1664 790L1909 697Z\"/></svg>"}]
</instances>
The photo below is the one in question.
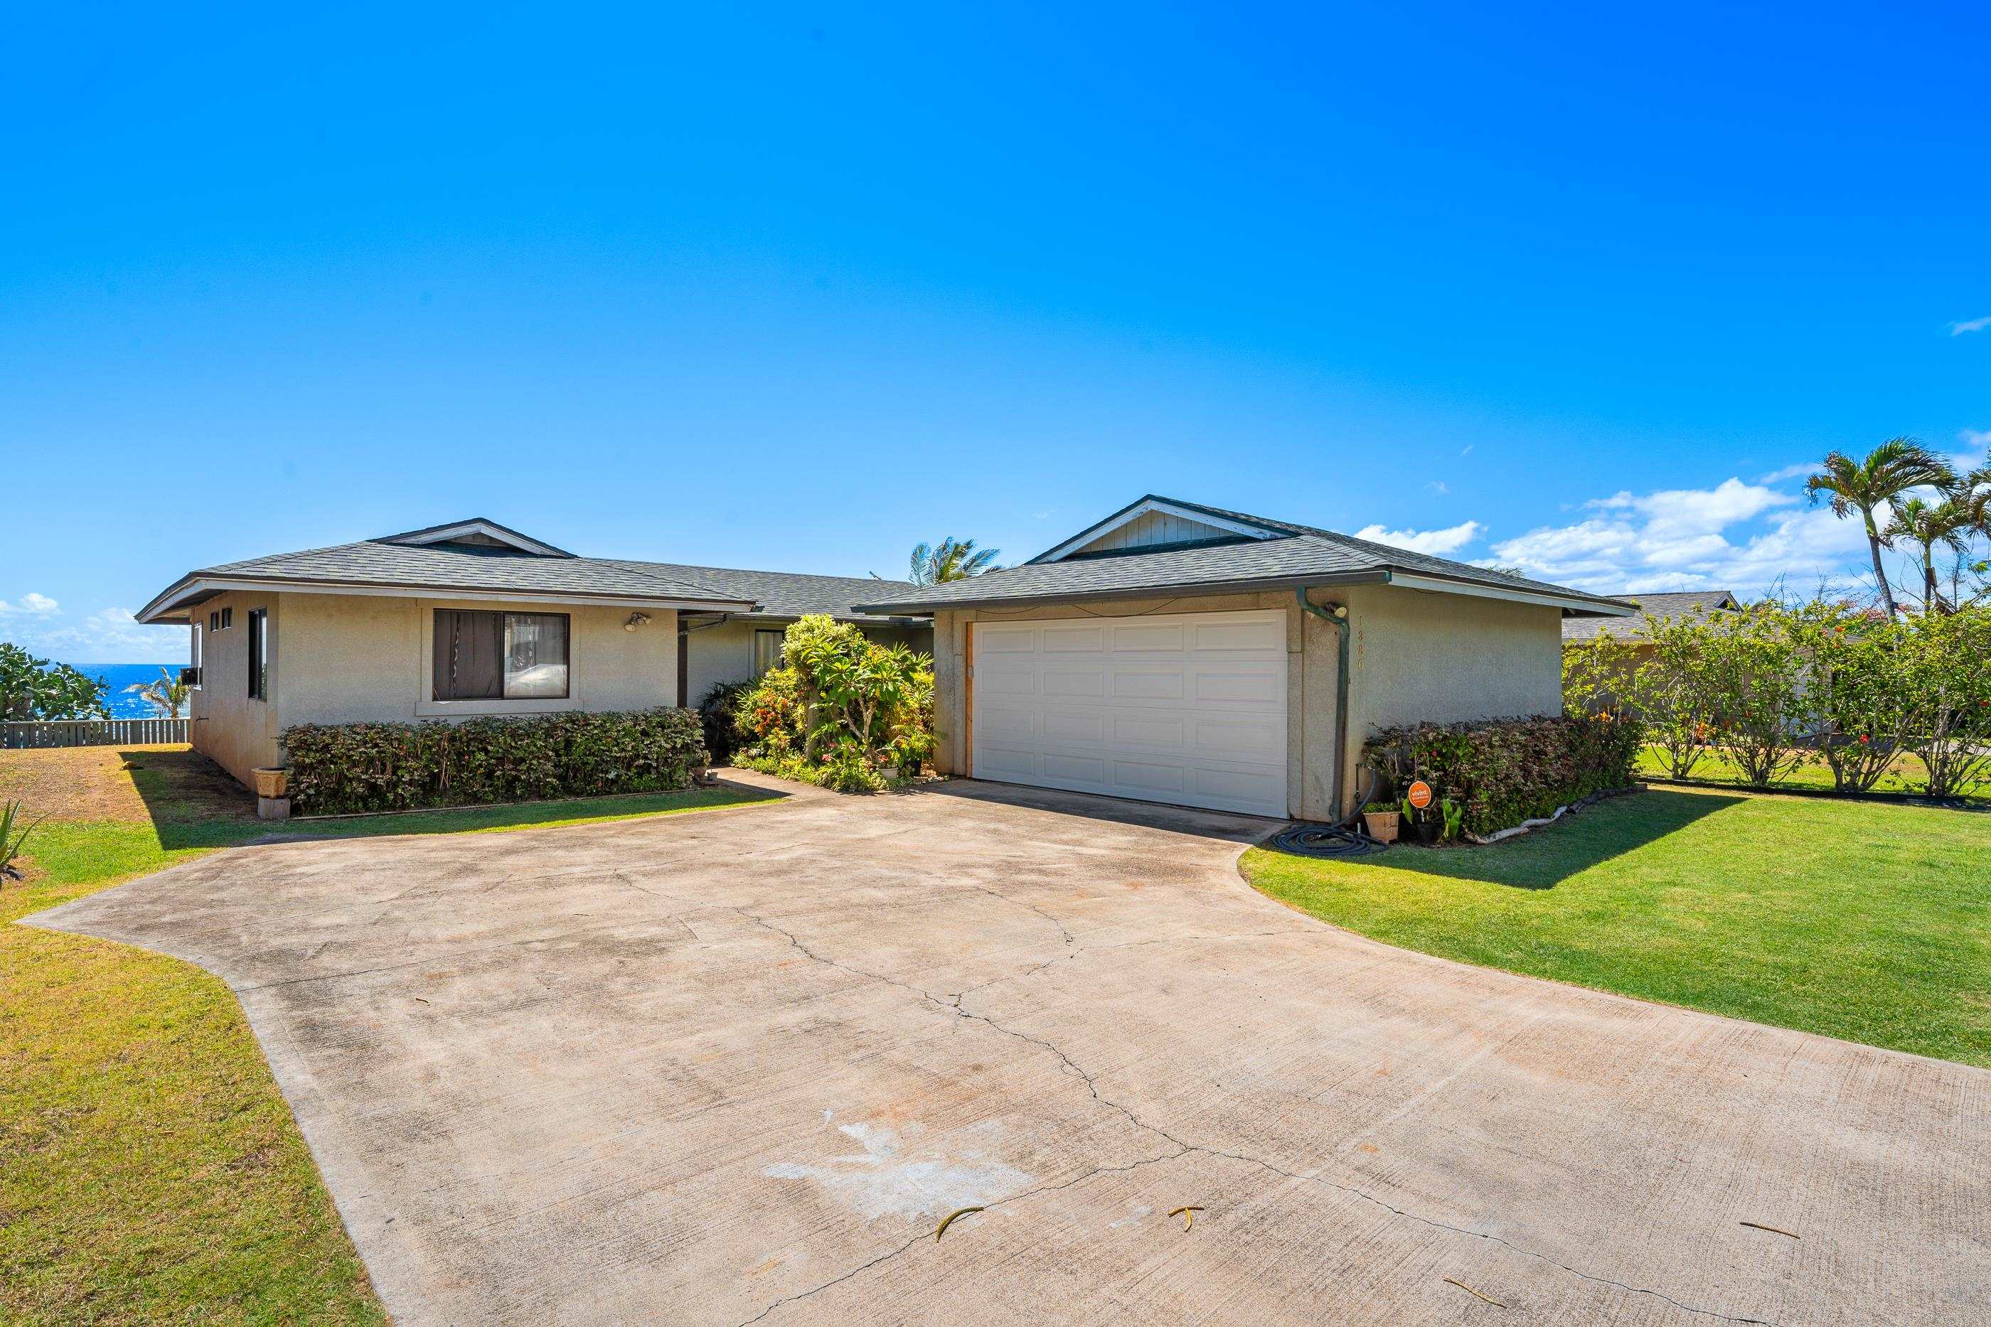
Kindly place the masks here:
<instances>
[{"instance_id":1,"label":"garage wing with white door, stucco walls and gabled shingle roof","mask_svg":"<svg viewBox=\"0 0 1991 1327\"><path fill-rule=\"evenodd\" d=\"M1300 820L1356 806L1378 728L1559 714L1563 621L1635 613L1157 495L1019 567L856 607L934 615L946 772Z\"/></svg>"}]
</instances>

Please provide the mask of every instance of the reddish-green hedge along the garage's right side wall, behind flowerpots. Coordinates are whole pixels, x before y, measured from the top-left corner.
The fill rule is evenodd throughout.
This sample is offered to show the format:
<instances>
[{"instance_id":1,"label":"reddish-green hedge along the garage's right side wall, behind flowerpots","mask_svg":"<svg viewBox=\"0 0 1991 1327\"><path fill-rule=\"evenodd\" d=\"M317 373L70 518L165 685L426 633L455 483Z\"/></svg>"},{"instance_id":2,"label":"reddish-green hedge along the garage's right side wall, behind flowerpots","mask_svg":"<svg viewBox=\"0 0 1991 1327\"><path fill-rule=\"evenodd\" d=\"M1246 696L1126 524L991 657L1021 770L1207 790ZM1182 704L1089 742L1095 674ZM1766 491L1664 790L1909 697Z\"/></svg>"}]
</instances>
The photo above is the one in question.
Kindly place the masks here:
<instances>
[{"instance_id":1,"label":"reddish-green hedge along the garage's right side wall, behind flowerpots","mask_svg":"<svg viewBox=\"0 0 1991 1327\"><path fill-rule=\"evenodd\" d=\"M1362 752L1396 792L1422 778L1485 836L1631 786L1641 744L1637 722L1571 714L1386 728Z\"/></svg>"}]
</instances>

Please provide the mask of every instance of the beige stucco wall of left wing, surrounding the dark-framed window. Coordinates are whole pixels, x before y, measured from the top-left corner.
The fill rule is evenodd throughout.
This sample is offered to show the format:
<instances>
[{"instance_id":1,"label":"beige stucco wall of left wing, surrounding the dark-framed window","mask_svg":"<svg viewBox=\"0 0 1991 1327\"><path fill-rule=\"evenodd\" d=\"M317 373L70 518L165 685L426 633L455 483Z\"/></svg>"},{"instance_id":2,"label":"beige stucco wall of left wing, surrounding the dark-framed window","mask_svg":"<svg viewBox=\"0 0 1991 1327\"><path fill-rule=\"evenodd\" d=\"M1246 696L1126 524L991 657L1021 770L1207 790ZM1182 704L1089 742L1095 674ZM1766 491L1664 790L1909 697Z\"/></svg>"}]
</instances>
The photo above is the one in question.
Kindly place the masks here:
<instances>
[{"instance_id":1,"label":"beige stucco wall of left wing, surrounding the dark-framed window","mask_svg":"<svg viewBox=\"0 0 1991 1327\"><path fill-rule=\"evenodd\" d=\"M223 605L235 607L235 627L203 633L201 690L191 708L193 746L243 782L259 766L283 764L279 734L297 724L677 704L677 615L669 609L647 609L647 625L623 631L627 607L233 593L201 605L201 621L209 609ZM247 696L247 611L253 607L267 607L271 621L267 704ZM432 611L448 607L567 613L567 698L432 700Z\"/></svg>"}]
</instances>

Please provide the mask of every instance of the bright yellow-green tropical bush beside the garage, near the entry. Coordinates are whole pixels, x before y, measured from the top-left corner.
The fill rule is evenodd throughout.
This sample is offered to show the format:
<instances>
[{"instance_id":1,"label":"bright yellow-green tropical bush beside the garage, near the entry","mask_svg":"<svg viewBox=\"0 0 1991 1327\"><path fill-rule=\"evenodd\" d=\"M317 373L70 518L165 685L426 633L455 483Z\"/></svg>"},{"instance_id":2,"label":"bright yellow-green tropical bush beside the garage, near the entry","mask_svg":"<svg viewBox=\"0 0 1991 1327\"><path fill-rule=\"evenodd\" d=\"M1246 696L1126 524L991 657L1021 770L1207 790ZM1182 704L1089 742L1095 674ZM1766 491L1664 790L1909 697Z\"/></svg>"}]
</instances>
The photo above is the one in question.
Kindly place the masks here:
<instances>
[{"instance_id":1,"label":"bright yellow-green tropical bush beside the garage, near the entry","mask_svg":"<svg viewBox=\"0 0 1991 1327\"><path fill-rule=\"evenodd\" d=\"M749 768L838 792L878 792L934 752L934 661L810 615L788 627L782 666L733 702Z\"/></svg>"}]
</instances>

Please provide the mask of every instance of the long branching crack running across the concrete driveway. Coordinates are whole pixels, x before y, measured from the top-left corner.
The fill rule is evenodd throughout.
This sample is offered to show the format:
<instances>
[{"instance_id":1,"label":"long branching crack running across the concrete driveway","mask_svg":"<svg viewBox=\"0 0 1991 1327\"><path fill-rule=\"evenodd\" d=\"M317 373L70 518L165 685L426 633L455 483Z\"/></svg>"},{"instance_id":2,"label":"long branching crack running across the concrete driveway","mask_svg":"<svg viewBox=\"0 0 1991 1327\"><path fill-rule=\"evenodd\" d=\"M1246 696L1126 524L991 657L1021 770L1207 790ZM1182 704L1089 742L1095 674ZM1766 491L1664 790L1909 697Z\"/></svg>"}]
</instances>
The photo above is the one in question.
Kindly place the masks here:
<instances>
[{"instance_id":1,"label":"long branching crack running across the concrete driveway","mask_svg":"<svg viewBox=\"0 0 1991 1327\"><path fill-rule=\"evenodd\" d=\"M994 893L994 891L984 889L984 893ZM997 897L1001 897L1001 895L997 895ZM1079 1176L1075 1180L1067 1180L1063 1184L1047 1184L1047 1186L1039 1186L1039 1188L1033 1188L1033 1190L1025 1190L1021 1194L1013 1194L1009 1198L999 1198L999 1200L996 1200L992 1204L986 1204L986 1208L1001 1208L1005 1204L1015 1204L1015 1202L1025 1200L1025 1198L1033 1198L1037 1194L1047 1194L1047 1192L1055 1192L1055 1190L1073 1188L1073 1186L1083 1184L1085 1180L1091 1180L1091 1178L1101 1176L1101 1174L1139 1170L1141 1166L1153 1166L1157 1162L1167 1162L1167 1160L1175 1160L1175 1158L1189 1156L1189 1154L1220 1156L1220 1158L1226 1158L1226 1160L1232 1160L1232 1162L1242 1162L1246 1166L1258 1166L1260 1170L1266 1170L1266 1172L1276 1174L1276 1176L1284 1176L1288 1180L1296 1180L1296 1182L1302 1182L1302 1184L1318 1184L1322 1188L1338 1190L1338 1192L1348 1194L1352 1198L1360 1198L1366 1204L1382 1208L1384 1212L1400 1216L1400 1218L1404 1218L1408 1222L1418 1222L1420 1226L1428 1226L1432 1230L1443 1230L1443 1232L1449 1232L1449 1233L1455 1233L1455 1235L1467 1235L1467 1237L1473 1237L1473 1239L1485 1239L1489 1243L1497 1243L1497 1245L1501 1245L1501 1247L1505 1247L1505 1249L1509 1249L1513 1253L1519 1253L1523 1257L1533 1257L1533 1259L1543 1261L1543 1263L1547 1263L1551 1267L1567 1271L1569 1275L1573 1275L1573 1277L1577 1277L1581 1281L1589 1281L1593 1285L1609 1285L1613 1289L1621 1289L1621 1291L1631 1293L1631 1295L1649 1295L1653 1299L1659 1299L1662 1303L1672 1305L1674 1309L1678 1309L1682 1313L1690 1313L1690 1315L1696 1315L1696 1317L1712 1317L1712 1319L1718 1319L1718 1321L1724 1321L1724 1323L1740 1323L1742 1327L1778 1327L1770 1319L1762 1319L1762 1317L1738 1317L1738 1315L1732 1315L1732 1313L1722 1313L1720 1309L1702 1309L1698 1305L1682 1303L1680 1299L1674 1299L1672 1295L1668 1295L1664 1291L1647 1289L1643 1285L1631 1285L1629 1281L1619 1281L1615 1277L1603 1277L1603 1275L1595 1275L1595 1273L1589 1273L1589 1271L1581 1271L1577 1267L1571 1267L1569 1263L1563 1263L1563 1261L1557 1261L1555 1257L1549 1257L1547 1253L1539 1253L1535 1249L1523 1247L1523 1245L1519 1245L1519 1243L1515 1243L1511 1239L1505 1239L1501 1235L1489 1235L1489 1233L1483 1233L1483 1232L1477 1232L1477 1230L1467 1230L1463 1226L1451 1226L1449 1222L1439 1222L1436 1218L1418 1216L1416 1212L1408 1212L1404 1208L1398 1208L1396 1204L1390 1204L1390 1202L1386 1202L1382 1198L1376 1198L1374 1194L1370 1194L1370 1192L1366 1192L1362 1188L1350 1186L1350 1184L1338 1184L1338 1182L1322 1178L1322 1176L1312 1176L1312 1174L1300 1174L1300 1172L1294 1172L1294 1170L1286 1170L1282 1166L1274 1166L1272 1162L1266 1162L1266 1160L1256 1158L1256 1156L1246 1156L1242 1152L1230 1152L1226 1148L1211 1148L1211 1146L1197 1144L1197 1142L1185 1142L1185 1140L1177 1138L1175 1134L1171 1134L1169 1130L1161 1128L1159 1124L1151 1124L1151 1122L1143 1120L1139 1114L1135 1114L1125 1104L1113 1100L1111 1096L1103 1096L1099 1092L1097 1076L1091 1074L1091 1072L1087 1072L1085 1066L1081 1066L1077 1060L1073 1060L1061 1046L1057 1046L1057 1044L1053 1044L1053 1043L1049 1043L1049 1041L1045 1041L1041 1037L1031 1037L1029 1033L1021 1033L1017 1029L1003 1027L996 1019L990 1019L988 1015L978 1015L978 1013L972 1013L968 1009L962 1009L962 1001L968 999L968 995L974 995L974 991L980 991L982 987L974 987L974 989L964 991L960 995L954 995L950 999L940 999L934 993L924 991L920 987L914 987L910 983L898 981L896 977L886 977L884 973L872 973L872 971L866 971L866 969L860 969L860 967L850 967L848 963L840 963L836 959L824 957L824 955L816 953L814 949L810 949L806 943L802 943L802 939L798 935L794 935L792 931L788 931L788 929L784 929L780 925L774 925L773 921L767 921L765 917L757 917L757 915L753 915L753 913L749 913L745 909L731 909L731 911L737 911L739 915L743 915L743 917L747 917L747 919L751 919L751 921L755 921L755 923L759 923L759 925L774 931L776 935L786 937L786 941L790 945L794 945L796 951L800 951L802 955L814 959L816 963L824 963L824 965L834 967L838 971L850 973L852 977L866 977L870 981L878 981L878 983L884 983L884 985L890 985L890 987L898 987L900 991L908 991L912 995L918 995L920 999L924 999L924 1001L932 1003L934 1007L938 1007L938 1009L942 1009L946 1013L952 1013L952 1015L956 1015L960 1019L970 1019L974 1023L986 1023L990 1029L994 1029L994 1031L997 1031L997 1033L1001 1033L1005 1037L1015 1037L1017 1041L1025 1041L1025 1043L1029 1043L1033 1046L1041 1046L1041 1048L1049 1050L1051 1054L1055 1054L1059 1058L1059 1064L1061 1064L1063 1072L1069 1072L1069 1074L1077 1076L1081 1082L1085 1082L1085 1090L1091 1094L1091 1098L1095 1102L1099 1102L1101 1106L1107 1106L1109 1110L1119 1112L1135 1128L1141 1128L1141 1130L1145 1130L1149 1134L1155 1134L1157 1138L1167 1138L1175 1146L1175 1152L1167 1152L1163 1156L1151 1156L1151 1158L1145 1158L1145 1160L1139 1160L1139 1162L1131 1162L1127 1166L1099 1166L1099 1168L1093 1168L1093 1170L1085 1172L1083 1176ZM1059 929L1063 929L1063 927L1059 927ZM1282 935L1282 931L1262 931L1262 933L1254 933L1254 935ZM1171 937L1169 941L1133 941L1129 945L1099 945L1099 949L1131 949L1131 947L1145 945L1145 943L1181 943L1185 939L1246 939L1246 937L1234 937L1234 935L1220 935L1220 937ZM1089 947L1087 949L1075 949L1073 953L1067 953L1067 955L1059 955L1057 959L1051 959L1049 963L1043 963L1043 965L1039 965L1037 969L1031 969L1031 971L1033 973L1035 971L1043 971L1051 963L1061 963L1065 959L1077 957L1079 953L1089 953ZM1023 975L1029 975L1029 973L1023 973ZM997 981L1007 981L1007 979L997 979ZM984 985L994 985L994 983L984 983ZM840 1285L840 1283L844 1283L844 1281L848 1281L848 1279L852 1279L856 1275L862 1275L864 1271L870 1271L872 1267L898 1257L900 1253L904 1253L906 1249L910 1249L920 1239L924 1239L924 1235L914 1235L906 1243L902 1243L902 1245L898 1245L894 1249L888 1249L888 1251L880 1253L878 1257L872 1257L870 1261L864 1261L864 1263L852 1267L850 1271L846 1271L846 1273L842 1273L842 1275L838 1275L838 1277L834 1277L830 1281L824 1281L822 1285L816 1285L812 1289L800 1291L796 1295L786 1295L782 1299L776 1299L771 1305L767 1305L765 1309L761 1309L759 1313L755 1313L753 1317L745 1319L741 1323L741 1327L747 1327L749 1323L759 1323L761 1319L765 1319L769 1313L773 1313L774 1309L778 1309L782 1305L794 1303L798 1299L808 1299L810 1295L816 1295L816 1293L820 1293L824 1289L830 1289L832 1285Z\"/></svg>"}]
</instances>

